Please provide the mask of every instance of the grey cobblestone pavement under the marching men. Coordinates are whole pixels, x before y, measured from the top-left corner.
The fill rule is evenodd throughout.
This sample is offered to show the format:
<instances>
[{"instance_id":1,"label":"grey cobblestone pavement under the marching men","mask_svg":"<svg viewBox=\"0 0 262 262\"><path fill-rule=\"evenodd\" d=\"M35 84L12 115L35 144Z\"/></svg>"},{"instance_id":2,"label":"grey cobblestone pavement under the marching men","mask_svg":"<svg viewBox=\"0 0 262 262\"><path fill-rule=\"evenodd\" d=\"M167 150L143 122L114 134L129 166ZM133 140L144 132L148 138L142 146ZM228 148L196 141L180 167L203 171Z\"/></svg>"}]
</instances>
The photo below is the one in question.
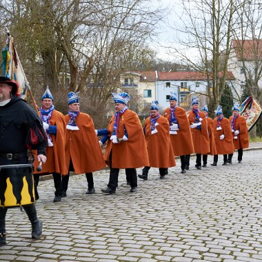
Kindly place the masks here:
<instances>
[{"instance_id":1,"label":"grey cobblestone pavement under the marching men","mask_svg":"<svg viewBox=\"0 0 262 262\"><path fill-rule=\"evenodd\" d=\"M94 173L88 196L84 175L70 177L68 197L52 203L52 180L41 181L37 202L43 236L30 239L30 223L8 210L8 245L0 261L262 261L262 150L244 152L243 163L180 173L165 179L150 170L130 193L121 170L117 194L104 196L108 170ZM141 173L141 169L138 170Z\"/></svg>"}]
</instances>

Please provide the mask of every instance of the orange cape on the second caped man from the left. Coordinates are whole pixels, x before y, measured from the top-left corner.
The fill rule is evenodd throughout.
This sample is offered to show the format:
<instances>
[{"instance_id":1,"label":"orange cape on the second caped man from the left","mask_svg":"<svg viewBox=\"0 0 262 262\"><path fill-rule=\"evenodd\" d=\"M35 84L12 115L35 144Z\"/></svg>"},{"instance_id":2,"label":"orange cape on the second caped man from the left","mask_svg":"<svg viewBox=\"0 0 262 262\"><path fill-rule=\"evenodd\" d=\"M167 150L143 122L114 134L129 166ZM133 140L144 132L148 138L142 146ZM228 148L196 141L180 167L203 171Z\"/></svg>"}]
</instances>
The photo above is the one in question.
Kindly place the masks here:
<instances>
[{"instance_id":1,"label":"orange cape on the second caped man from the left","mask_svg":"<svg viewBox=\"0 0 262 262\"><path fill-rule=\"evenodd\" d=\"M70 116L65 116L66 123ZM76 174L90 173L105 168L105 161L94 132L94 123L90 115L80 113L76 119L79 130L66 130L66 167L70 158Z\"/></svg>"}]
</instances>

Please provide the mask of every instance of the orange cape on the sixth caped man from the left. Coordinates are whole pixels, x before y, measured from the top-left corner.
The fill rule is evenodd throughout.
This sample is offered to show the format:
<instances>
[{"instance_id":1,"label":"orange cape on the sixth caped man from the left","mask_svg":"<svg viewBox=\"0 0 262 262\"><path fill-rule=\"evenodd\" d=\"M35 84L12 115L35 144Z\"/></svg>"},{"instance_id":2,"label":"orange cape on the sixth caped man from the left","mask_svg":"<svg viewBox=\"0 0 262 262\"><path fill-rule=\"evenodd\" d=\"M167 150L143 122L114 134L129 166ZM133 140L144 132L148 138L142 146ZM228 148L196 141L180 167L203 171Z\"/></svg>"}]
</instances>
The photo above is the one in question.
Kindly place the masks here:
<instances>
[{"instance_id":1,"label":"orange cape on the sixth caped man from the left","mask_svg":"<svg viewBox=\"0 0 262 262\"><path fill-rule=\"evenodd\" d=\"M194 123L195 114L191 110L188 112L188 120L190 125ZM208 137L208 122L203 112L199 112L201 121L201 130L197 128L191 128L192 139L194 143L194 152L196 154L208 154L210 152L209 137Z\"/></svg>"}]
</instances>

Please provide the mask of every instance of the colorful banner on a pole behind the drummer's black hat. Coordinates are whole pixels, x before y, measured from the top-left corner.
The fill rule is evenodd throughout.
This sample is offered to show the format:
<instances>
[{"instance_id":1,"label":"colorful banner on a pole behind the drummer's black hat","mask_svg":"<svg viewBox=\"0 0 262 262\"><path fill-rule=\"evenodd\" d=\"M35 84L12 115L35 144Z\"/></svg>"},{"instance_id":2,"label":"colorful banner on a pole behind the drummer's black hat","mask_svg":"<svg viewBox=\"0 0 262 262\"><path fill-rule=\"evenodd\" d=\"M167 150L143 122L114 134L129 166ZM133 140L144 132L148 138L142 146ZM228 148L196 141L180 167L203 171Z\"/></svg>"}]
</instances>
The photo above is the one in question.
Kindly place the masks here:
<instances>
[{"instance_id":1,"label":"colorful banner on a pole behind the drummer's black hat","mask_svg":"<svg viewBox=\"0 0 262 262\"><path fill-rule=\"evenodd\" d=\"M19 93L22 99L26 99L26 91L29 88L26 74L23 72L23 67L19 60L17 50L14 48L13 38L8 35L6 39L6 47L2 51L3 63L3 76L9 77L17 81L19 84Z\"/></svg>"}]
</instances>

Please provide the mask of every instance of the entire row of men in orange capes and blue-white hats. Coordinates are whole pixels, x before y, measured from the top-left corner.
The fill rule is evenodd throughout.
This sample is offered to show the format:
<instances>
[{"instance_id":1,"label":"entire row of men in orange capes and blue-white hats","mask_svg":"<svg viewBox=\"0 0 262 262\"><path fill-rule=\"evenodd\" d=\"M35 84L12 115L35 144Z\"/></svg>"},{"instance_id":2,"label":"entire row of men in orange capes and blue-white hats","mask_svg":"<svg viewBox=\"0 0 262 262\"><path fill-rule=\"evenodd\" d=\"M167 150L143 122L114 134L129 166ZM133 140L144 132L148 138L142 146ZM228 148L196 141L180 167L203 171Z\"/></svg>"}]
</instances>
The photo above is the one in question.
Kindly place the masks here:
<instances>
[{"instance_id":1,"label":"entire row of men in orange capes and blue-white hats","mask_svg":"<svg viewBox=\"0 0 262 262\"><path fill-rule=\"evenodd\" d=\"M214 155L216 165L218 155L223 154L223 165L232 163L234 150L238 150L241 163L243 148L248 148L248 128L245 119L234 106L230 119L223 117L221 106L215 111L214 121L208 117L205 105L199 111L199 101L192 99L192 110L177 106L177 95L170 94L170 108L163 116L159 114L158 101L152 101L150 117L144 127L137 114L128 109L129 94L112 93L115 113L108 128L95 130L92 118L79 110L79 94L68 94L68 114L63 116L54 110L53 97L47 88L42 97L40 116L48 136L46 164L43 170L34 172L38 184L39 175L52 174L54 178L54 202L66 196L70 171L85 173L88 181L86 194L94 194L92 172L110 167L107 188L102 192L114 194L118 187L119 170L125 169L130 192L137 191L137 170L143 168L139 178L147 180L150 167L159 168L160 179L174 167L174 157L181 159L181 173L189 170L190 154L196 153L196 168L207 166L208 154ZM97 136L103 136L98 141ZM101 145L108 141L105 154ZM203 165L202 165L203 157ZM37 167L38 163L35 163ZM36 169L35 169L36 170Z\"/></svg>"}]
</instances>

